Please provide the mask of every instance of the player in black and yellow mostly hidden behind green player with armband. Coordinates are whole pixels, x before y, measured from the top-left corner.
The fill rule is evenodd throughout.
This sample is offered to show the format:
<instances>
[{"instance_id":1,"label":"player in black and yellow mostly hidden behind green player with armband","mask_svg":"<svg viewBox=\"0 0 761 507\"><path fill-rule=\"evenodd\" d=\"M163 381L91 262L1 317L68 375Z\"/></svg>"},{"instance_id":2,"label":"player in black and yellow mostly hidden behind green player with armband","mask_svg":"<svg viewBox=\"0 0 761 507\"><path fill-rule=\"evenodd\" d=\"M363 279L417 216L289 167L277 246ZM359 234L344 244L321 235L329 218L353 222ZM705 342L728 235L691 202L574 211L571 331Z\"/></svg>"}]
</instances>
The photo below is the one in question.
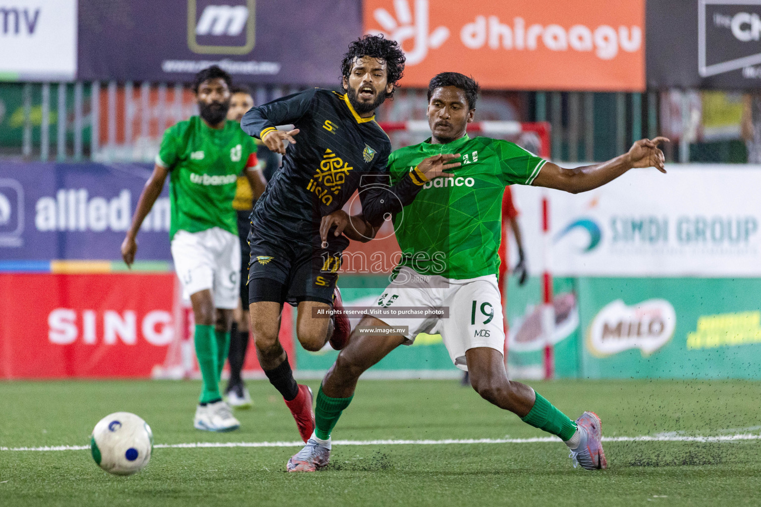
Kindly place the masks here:
<instances>
[{"instance_id":1,"label":"player in black and yellow mostly hidden behind green player with armband","mask_svg":"<svg viewBox=\"0 0 761 507\"><path fill-rule=\"evenodd\" d=\"M230 88L230 109L228 119L240 123L244 114L253 107L251 90L244 85L234 85ZM262 171L266 181L272 179L272 174L280 166L277 154L269 151L262 141L256 139L257 168ZM237 213L238 237L240 239L240 302L234 312L234 322L230 336L230 379L228 387L224 390L228 404L234 408L248 408L251 406L251 397L240 373L246 362L248 350L248 261L250 248L248 246L248 230L250 229L250 214L253 208L253 191L248 179L237 179L233 208Z\"/></svg>"}]
</instances>

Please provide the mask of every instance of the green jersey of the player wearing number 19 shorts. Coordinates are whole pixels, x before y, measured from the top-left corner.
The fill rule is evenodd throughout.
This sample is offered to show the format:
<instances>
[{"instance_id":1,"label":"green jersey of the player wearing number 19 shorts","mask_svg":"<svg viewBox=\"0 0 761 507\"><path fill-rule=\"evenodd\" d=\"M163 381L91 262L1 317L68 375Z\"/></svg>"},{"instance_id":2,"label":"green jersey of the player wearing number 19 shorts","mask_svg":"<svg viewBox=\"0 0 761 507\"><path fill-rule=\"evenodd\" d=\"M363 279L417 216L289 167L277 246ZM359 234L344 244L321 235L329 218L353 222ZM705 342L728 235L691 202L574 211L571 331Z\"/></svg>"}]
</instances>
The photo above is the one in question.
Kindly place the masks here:
<instances>
[{"instance_id":1,"label":"green jersey of the player wearing number 19 shorts","mask_svg":"<svg viewBox=\"0 0 761 507\"><path fill-rule=\"evenodd\" d=\"M393 217L403 252L399 266L459 280L497 274L505 186L530 185L546 160L498 139L429 141L393 151L393 182L433 155L459 153L453 161L462 166L450 171L453 178L425 182L412 204Z\"/></svg>"}]
</instances>

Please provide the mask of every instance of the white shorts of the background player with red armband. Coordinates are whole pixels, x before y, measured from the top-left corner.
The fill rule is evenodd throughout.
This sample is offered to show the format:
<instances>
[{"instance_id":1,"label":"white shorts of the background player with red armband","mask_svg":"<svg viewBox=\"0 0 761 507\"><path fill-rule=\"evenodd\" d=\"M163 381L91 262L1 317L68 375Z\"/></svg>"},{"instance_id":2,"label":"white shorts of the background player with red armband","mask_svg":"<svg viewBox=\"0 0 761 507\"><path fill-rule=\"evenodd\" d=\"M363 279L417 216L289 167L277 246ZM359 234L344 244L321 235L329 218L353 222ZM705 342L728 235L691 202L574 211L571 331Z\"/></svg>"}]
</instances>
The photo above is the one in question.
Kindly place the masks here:
<instances>
[{"instance_id":1,"label":"white shorts of the background player with red armband","mask_svg":"<svg viewBox=\"0 0 761 507\"><path fill-rule=\"evenodd\" d=\"M235 309L240 297L240 240L219 227L189 233L178 230L172 239L174 271L183 286L183 299L210 289L215 308Z\"/></svg>"}]
</instances>

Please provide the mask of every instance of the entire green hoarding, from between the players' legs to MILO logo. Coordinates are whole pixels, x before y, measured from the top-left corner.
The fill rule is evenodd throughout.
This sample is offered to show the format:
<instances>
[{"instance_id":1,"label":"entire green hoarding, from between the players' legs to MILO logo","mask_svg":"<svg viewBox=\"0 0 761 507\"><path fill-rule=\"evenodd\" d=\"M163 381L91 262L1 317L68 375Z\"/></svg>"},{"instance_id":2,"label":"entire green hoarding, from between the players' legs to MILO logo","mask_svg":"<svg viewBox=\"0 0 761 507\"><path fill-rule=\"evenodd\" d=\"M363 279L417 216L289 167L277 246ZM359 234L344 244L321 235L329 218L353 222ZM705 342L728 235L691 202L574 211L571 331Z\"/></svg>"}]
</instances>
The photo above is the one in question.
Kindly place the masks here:
<instances>
[{"instance_id":1,"label":"entire green hoarding, from between the players' legs to MILO logo","mask_svg":"<svg viewBox=\"0 0 761 507\"><path fill-rule=\"evenodd\" d=\"M377 280L342 290L345 306L374 303ZM508 280L508 374L543 376L541 284ZM556 378L761 379L761 279L557 277ZM335 350L297 346L300 371L324 371ZM456 376L441 336L421 334L371 369L376 375Z\"/></svg>"}]
</instances>

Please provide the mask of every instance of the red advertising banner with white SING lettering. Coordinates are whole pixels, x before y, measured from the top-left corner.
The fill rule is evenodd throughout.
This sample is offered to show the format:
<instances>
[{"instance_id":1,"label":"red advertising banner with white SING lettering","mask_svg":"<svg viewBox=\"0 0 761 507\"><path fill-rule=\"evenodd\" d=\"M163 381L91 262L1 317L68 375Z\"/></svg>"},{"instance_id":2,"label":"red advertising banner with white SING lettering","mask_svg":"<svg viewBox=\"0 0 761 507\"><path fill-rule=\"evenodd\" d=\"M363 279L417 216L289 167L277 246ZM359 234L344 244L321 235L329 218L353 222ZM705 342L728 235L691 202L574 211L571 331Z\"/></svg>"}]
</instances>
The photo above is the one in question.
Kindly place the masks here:
<instances>
[{"instance_id":1,"label":"red advertising banner with white SING lettering","mask_svg":"<svg viewBox=\"0 0 761 507\"><path fill-rule=\"evenodd\" d=\"M0 274L0 378L148 377L174 340L174 273Z\"/></svg>"}]
</instances>

